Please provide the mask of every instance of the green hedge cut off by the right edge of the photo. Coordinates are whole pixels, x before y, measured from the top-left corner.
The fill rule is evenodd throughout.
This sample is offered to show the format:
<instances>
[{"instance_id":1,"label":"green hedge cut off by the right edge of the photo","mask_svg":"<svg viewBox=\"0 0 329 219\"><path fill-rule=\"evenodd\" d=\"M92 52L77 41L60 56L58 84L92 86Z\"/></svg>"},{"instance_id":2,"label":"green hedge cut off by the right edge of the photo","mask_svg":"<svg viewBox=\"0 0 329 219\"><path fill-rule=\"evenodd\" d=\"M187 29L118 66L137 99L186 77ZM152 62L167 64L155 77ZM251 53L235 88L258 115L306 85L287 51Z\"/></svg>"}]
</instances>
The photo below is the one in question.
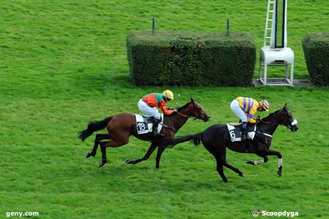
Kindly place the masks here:
<instances>
[{"instance_id":1,"label":"green hedge cut off by the right edge of the photo","mask_svg":"<svg viewBox=\"0 0 329 219\"><path fill-rule=\"evenodd\" d=\"M329 85L329 33L309 33L303 38L308 73L314 84Z\"/></svg>"}]
</instances>

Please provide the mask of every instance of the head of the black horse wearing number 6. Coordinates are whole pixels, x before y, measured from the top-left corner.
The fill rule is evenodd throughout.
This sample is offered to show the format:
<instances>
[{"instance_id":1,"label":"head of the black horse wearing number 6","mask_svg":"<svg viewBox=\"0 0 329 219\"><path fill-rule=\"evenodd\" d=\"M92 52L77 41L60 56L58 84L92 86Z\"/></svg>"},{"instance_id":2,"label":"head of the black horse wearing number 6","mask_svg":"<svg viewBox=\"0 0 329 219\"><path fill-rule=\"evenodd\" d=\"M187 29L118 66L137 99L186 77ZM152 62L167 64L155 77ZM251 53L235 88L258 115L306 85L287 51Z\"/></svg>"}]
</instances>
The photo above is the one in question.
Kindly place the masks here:
<instances>
[{"instance_id":1,"label":"head of the black horse wearing number 6","mask_svg":"<svg viewBox=\"0 0 329 219\"><path fill-rule=\"evenodd\" d=\"M293 114L290 112L287 104L284 104L282 109L273 113L272 122L285 125L292 132L297 132L298 130L297 120L293 118Z\"/></svg>"}]
</instances>

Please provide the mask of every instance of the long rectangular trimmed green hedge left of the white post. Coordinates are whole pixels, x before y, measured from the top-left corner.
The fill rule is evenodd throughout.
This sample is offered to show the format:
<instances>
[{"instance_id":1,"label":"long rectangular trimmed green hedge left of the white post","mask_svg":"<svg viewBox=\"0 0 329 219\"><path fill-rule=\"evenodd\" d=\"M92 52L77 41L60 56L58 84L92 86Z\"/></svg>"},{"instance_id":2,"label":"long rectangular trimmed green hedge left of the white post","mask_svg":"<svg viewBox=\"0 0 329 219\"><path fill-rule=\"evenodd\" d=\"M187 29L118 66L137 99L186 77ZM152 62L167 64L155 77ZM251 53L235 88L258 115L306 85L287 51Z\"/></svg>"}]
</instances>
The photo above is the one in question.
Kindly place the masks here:
<instances>
[{"instance_id":1,"label":"long rectangular trimmed green hedge left of the white post","mask_svg":"<svg viewBox=\"0 0 329 219\"><path fill-rule=\"evenodd\" d=\"M250 33L135 31L127 54L137 85L251 86L256 62Z\"/></svg>"}]
</instances>

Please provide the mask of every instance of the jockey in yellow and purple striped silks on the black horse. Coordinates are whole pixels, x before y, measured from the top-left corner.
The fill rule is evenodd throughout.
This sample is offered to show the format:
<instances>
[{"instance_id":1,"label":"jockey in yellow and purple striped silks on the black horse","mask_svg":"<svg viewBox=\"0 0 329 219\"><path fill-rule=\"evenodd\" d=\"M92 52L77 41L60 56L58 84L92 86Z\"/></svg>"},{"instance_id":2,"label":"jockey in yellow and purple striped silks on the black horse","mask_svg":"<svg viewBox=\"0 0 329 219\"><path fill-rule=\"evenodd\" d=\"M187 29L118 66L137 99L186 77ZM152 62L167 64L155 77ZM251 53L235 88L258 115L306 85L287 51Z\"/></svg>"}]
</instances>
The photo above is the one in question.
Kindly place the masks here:
<instances>
[{"instance_id":1,"label":"jockey in yellow and purple striped silks on the black horse","mask_svg":"<svg viewBox=\"0 0 329 219\"><path fill-rule=\"evenodd\" d=\"M256 123L257 120L254 118L254 114L257 111L268 111L270 104L267 100L256 101L253 98L238 97L231 103L231 110L241 119L241 140L249 139L246 133L246 125L250 123Z\"/></svg>"}]
</instances>

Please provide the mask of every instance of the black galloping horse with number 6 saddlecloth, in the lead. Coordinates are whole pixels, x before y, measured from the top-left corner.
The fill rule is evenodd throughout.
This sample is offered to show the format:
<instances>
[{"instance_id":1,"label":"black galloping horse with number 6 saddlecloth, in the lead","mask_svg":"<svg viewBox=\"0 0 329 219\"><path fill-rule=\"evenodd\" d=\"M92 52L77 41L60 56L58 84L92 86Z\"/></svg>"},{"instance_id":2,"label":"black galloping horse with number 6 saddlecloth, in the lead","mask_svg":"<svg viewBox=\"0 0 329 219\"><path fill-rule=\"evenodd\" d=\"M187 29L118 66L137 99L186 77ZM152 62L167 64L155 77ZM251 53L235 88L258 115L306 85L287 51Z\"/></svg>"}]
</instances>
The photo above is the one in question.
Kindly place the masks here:
<instances>
[{"instance_id":1,"label":"black galloping horse with number 6 saddlecloth, in the lead","mask_svg":"<svg viewBox=\"0 0 329 219\"><path fill-rule=\"evenodd\" d=\"M207 149L215 157L217 162L217 171L224 182L227 182L227 179L224 175L223 166L238 173L240 177L244 177L244 174L239 169L226 162L226 148L229 148L230 150L238 153L253 153L263 158L263 160L258 161L246 161L246 163L252 165L266 163L268 161L267 156L277 156L277 174L281 176L282 155L278 151L270 150L272 135L278 125L286 126L292 132L296 132L298 130L297 120L293 119L293 115L287 108L286 104L282 109L277 110L274 113L270 113L270 115L261 120L258 119L255 137L253 140L232 142L227 125L215 124L205 129L202 133L187 135L176 139L163 139L162 144L166 147L172 148L178 143L186 142L189 140L193 141L194 145L198 145L200 141L202 141L205 149Z\"/></svg>"}]
</instances>

